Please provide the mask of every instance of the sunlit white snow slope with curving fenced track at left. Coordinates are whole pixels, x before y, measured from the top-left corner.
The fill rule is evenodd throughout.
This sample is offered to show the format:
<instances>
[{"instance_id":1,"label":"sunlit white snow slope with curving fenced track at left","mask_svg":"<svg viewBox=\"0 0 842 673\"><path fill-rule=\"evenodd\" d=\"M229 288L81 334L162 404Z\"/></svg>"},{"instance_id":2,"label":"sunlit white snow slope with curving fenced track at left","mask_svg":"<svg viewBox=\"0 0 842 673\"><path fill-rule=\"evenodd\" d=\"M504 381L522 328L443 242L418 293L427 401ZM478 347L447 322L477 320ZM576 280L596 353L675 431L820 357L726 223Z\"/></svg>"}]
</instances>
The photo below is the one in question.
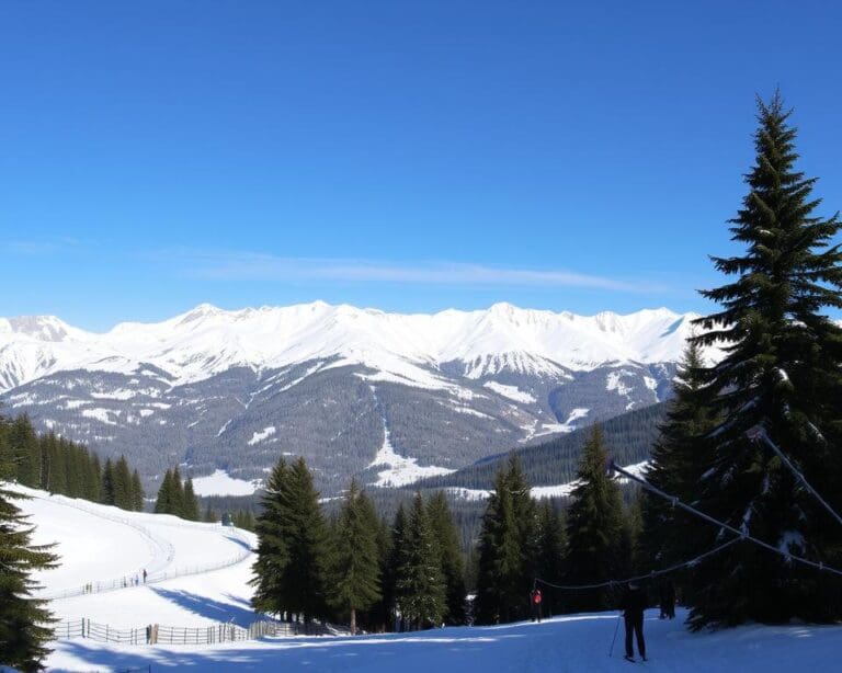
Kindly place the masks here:
<instances>
[{"instance_id":1,"label":"sunlit white snow slope with curving fenced track at left","mask_svg":"<svg viewBox=\"0 0 842 673\"><path fill-rule=\"evenodd\" d=\"M243 608L252 595L251 533L13 488L29 495L16 504L35 525L34 541L55 544L60 557L58 568L34 575L59 621L197 627L252 618Z\"/></svg>"}]
</instances>

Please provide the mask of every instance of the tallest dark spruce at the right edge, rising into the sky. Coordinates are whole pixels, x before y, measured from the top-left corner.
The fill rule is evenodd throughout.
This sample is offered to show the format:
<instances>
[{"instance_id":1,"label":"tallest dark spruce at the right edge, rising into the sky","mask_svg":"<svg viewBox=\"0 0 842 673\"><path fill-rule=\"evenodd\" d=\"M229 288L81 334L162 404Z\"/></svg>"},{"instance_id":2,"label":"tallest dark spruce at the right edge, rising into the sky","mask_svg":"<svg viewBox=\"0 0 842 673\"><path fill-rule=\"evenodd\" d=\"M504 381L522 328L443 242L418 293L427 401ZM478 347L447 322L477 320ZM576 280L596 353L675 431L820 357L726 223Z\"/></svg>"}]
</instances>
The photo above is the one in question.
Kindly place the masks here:
<instances>
[{"instance_id":1,"label":"tallest dark spruce at the right edge, rising into the sky","mask_svg":"<svg viewBox=\"0 0 842 673\"><path fill-rule=\"evenodd\" d=\"M807 480L842 509L842 307L837 216L815 215L816 179L795 168L796 130L780 93L758 101L756 160L749 193L730 220L742 254L714 258L732 280L703 295L721 306L695 338L725 357L707 372L721 424L709 434L699 506L790 554L842 563L842 531L781 459L747 431L762 425ZM691 623L831 620L842 616L839 582L741 543L695 575Z\"/></svg>"}]
</instances>

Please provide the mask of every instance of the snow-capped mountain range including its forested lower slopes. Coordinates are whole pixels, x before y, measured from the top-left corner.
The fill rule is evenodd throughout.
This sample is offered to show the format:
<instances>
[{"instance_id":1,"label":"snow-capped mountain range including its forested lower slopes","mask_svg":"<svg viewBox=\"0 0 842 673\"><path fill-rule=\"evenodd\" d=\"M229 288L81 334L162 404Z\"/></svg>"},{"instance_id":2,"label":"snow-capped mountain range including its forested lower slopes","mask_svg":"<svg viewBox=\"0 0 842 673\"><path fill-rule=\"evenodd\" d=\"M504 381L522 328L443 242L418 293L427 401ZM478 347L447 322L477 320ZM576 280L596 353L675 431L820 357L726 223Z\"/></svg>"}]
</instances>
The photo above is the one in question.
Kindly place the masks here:
<instances>
[{"instance_id":1,"label":"snow-capped mountain range including its forested lower slopes","mask_svg":"<svg viewBox=\"0 0 842 673\"><path fill-rule=\"evenodd\" d=\"M326 491L351 474L396 486L664 399L695 317L316 301L105 333L3 318L0 402L147 480L174 463L254 479L288 454Z\"/></svg>"}]
</instances>

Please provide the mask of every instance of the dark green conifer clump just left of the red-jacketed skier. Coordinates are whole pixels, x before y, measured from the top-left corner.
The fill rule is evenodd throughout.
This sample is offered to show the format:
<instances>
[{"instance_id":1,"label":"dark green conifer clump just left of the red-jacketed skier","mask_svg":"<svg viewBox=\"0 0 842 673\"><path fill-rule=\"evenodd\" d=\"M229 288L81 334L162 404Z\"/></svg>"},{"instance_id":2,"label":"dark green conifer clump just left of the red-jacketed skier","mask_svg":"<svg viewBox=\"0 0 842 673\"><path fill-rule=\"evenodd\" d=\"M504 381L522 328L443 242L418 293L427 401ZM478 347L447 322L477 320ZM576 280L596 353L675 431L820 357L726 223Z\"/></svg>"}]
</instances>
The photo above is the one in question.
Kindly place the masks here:
<instances>
[{"instance_id":1,"label":"dark green conifer clump just left of the red-jacketed skier","mask_svg":"<svg viewBox=\"0 0 842 673\"><path fill-rule=\"evenodd\" d=\"M479 537L475 618L480 624L522 619L535 562L535 501L516 454L494 483Z\"/></svg>"}]
</instances>

